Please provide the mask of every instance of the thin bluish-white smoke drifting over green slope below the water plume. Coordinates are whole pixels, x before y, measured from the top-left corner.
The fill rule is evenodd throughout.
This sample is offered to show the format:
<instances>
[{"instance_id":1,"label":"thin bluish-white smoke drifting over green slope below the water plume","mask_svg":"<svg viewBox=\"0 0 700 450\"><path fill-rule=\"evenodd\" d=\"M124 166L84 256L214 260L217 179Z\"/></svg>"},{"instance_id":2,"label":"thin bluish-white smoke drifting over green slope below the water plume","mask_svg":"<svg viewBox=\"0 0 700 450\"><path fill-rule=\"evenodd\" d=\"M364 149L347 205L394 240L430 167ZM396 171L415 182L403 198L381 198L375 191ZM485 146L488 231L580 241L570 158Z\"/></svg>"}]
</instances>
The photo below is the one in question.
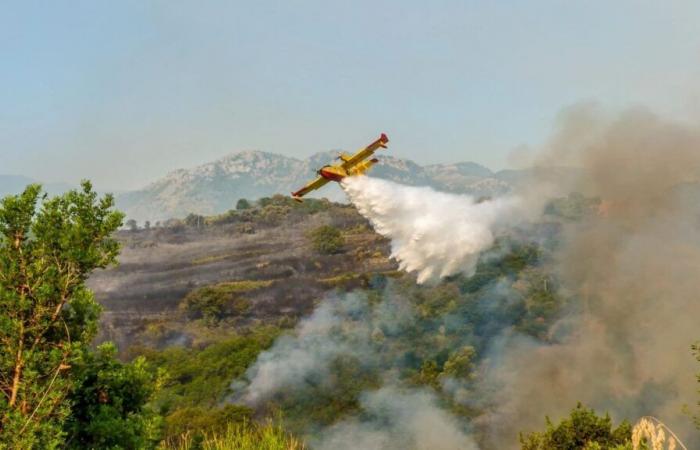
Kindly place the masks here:
<instances>
[{"instance_id":1,"label":"thin bluish-white smoke drifting over green slope below the water plume","mask_svg":"<svg viewBox=\"0 0 700 450\"><path fill-rule=\"evenodd\" d=\"M333 389L335 364L350 360L363 373L377 373L382 387L360 395L361 417L351 415L310 436L313 448L476 449L464 422L441 408L429 389L400 386L395 379L403 352L391 346L403 345L416 320L413 307L390 289L377 304L360 294L327 298L233 383L239 393L234 400L255 407L280 395L308 401L324 386Z\"/></svg>"}]
</instances>

